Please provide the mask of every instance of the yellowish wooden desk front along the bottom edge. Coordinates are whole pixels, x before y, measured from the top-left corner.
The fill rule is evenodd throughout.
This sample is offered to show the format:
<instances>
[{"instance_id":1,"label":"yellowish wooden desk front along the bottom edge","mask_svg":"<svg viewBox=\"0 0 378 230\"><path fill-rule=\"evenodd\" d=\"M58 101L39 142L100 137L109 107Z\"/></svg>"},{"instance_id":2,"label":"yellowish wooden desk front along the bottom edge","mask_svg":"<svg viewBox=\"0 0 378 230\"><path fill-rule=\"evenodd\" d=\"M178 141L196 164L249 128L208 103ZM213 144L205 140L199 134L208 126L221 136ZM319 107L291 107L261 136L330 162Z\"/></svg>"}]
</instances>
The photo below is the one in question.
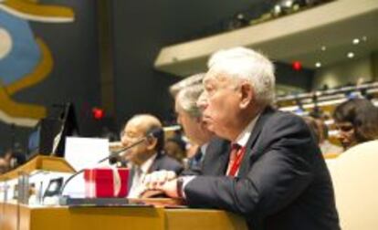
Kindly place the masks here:
<instances>
[{"instance_id":1,"label":"yellowish wooden desk front along the bottom edge","mask_svg":"<svg viewBox=\"0 0 378 230\"><path fill-rule=\"evenodd\" d=\"M28 207L0 204L1 230L247 229L236 214L154 207Z\"/></svg>"}]
</instances>

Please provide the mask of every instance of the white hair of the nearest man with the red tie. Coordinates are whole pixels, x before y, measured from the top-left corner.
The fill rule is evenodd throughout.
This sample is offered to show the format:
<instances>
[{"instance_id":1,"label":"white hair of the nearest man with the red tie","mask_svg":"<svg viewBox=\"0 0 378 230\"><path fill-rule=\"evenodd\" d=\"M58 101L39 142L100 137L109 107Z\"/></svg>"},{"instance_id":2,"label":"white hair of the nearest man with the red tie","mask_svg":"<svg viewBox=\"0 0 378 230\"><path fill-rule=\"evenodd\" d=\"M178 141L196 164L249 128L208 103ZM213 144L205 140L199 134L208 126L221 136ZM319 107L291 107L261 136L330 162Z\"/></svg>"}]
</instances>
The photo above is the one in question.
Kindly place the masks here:
<instances>
[{"instance_id":1,"label":"white hair of the nearest man with the red tie","mask_svg":"<svg viewBox=\"0 0 378 230\"><path fill-rule=\"evenodd\" d=\"M208 74L212 76L247 79L255 90L257 102L273 102L276 79L273 63L268 57L246 47L234 47L215 52L207 66Z\"/></svg>"}]
</instances>

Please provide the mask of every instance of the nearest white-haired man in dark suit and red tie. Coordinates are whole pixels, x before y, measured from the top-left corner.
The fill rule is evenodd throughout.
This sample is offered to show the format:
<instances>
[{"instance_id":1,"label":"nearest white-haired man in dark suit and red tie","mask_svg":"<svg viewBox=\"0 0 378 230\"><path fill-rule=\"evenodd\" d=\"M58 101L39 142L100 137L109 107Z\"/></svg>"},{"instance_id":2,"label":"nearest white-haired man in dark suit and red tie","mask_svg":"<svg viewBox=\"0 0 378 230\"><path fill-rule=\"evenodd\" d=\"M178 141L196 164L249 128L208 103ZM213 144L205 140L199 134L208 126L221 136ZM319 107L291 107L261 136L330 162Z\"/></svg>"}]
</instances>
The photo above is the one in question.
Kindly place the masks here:
<instances>
[{"instance_id":1,"label":"nearest white-haired man in dark suit and red tie","mask_svg":"<svg viewBox=\"0 0 378 230\"><path fill-rule=\"evenodd\" d=\"M244 47L215 57L198 105L207 128L231 142L231 152L213 162L223 170L146 186L190 207L241 214L250 229L340 229L330 173L309 127L269 106L273 64Z\"/></svg>"}]
</instances>

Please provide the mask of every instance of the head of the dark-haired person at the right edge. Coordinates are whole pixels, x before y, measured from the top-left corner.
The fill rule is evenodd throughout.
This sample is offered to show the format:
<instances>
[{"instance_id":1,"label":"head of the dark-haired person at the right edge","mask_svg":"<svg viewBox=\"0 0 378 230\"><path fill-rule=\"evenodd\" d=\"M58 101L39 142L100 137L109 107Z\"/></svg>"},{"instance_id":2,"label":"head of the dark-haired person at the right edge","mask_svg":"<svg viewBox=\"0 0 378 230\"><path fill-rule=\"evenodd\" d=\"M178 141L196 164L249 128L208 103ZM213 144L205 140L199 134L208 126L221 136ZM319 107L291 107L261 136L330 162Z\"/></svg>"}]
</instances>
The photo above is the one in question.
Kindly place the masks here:
<instances>
[{"instance_id":1,"label":"head of the dark-haired person at the right edge","mask_svg":"<svg viewBox=\"0 0 378 230\"><path fill-rule=\"evenodd\" d=\"M338 139L344 150L378 139L378 109L368 99L350 99L333 112Z\"/></svg>"}]
</instances>

